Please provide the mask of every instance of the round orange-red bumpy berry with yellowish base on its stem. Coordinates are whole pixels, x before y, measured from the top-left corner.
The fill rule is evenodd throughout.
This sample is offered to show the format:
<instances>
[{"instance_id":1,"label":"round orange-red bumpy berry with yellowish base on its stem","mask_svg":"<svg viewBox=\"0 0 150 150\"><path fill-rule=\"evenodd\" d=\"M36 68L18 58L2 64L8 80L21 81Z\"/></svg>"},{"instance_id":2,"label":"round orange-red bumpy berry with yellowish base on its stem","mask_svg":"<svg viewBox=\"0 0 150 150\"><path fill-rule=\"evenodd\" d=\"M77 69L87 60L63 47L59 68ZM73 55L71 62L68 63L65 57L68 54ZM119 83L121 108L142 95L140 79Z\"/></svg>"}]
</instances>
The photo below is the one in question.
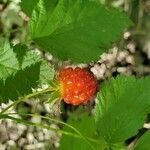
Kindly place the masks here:
<instances>
[{"instance_id":1,"label":"round orange-red bumpy berry with yellowish base on its stem","mask_svg":"<svg viewBox=\"0 0 150 150\"><path fill-rule=\"evenodd\" d=\"M97 82L93 74L76 67L62 69L58 75L61 98L68 104L80 105L95 95Z\"/></svg>"}]
</instances>

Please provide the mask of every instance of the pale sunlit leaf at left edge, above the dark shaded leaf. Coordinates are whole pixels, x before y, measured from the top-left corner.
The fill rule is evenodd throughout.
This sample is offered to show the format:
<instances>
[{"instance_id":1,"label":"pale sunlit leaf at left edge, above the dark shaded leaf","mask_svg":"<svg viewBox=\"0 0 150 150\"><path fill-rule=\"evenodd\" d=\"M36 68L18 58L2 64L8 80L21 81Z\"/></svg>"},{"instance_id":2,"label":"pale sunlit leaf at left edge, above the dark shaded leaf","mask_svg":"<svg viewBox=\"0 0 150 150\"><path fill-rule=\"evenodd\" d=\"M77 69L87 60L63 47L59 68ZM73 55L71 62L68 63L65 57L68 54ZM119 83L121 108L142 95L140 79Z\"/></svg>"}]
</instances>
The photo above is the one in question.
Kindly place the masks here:
<instances>
[{"instance_id":1,"label":"pale sunlit leaf at left edge, above the dark shaded leaf","mask_svg":"<svg viewBox=\"0 0 150 150\"><path fill-rule=\"evenodd\" d=\"M0 41L0 79L6 78L19 70L18 60L6 40Z\"/></svg>"}]
</instances>

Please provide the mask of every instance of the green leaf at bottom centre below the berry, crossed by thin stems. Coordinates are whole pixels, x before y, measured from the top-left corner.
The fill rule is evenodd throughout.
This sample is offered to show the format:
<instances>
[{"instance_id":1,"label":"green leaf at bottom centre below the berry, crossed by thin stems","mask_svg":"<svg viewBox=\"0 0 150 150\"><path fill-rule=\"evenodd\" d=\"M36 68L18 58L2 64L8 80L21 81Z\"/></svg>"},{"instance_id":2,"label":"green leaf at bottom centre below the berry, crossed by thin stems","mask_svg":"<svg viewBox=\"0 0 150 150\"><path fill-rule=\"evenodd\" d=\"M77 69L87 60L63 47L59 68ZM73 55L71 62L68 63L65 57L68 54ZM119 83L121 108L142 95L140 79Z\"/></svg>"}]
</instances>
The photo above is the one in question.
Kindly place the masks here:
<instances>
[{"instance_id":1,"label":"green leaf at bottom centre below the berry, crossed by thin stems","mask_svg":"<svg viewBox=\"0 0 150 150\"><path fill-rule=\"evenodd\" d=\"M83 140L83 138L63 135L60 141L59 150L92 150L92 148L94 150L103 150L106 146L105 143L96 136L93 116L88 116L86 113L82 112L82 114L78 115L78 117L77 115L76 117L70 117L67 123L76 128L85 137L85 139L91 138L96 142L86 139L90 142L89 144L86 140ZM64 131L77 134L69 127L64 127Z\"/></svg>"}]
</instances>

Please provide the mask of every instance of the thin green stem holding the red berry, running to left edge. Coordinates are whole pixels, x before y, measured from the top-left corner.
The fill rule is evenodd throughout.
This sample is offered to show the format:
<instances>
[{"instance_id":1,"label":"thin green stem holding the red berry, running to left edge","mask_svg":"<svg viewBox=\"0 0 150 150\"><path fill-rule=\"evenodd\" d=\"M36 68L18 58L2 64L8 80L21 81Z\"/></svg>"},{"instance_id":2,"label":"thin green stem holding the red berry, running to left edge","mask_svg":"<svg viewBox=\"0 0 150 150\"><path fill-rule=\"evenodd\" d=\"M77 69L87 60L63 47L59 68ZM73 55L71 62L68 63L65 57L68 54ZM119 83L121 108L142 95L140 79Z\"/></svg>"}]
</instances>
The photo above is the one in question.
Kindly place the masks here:
<instances>
[{"instance_id":1,"label":"thin green stem holding the red berry, running to left edge","mask_svg":"<svg viewBox=\"0 0 150 150\"><path fill-rule=\"evenodd\" d=\"M29 98L32 98L32 97L35 97L35 96L38 96L38 95L41 95L41 94L44 94L44 93L47 93L47 92L52 92L52 91L54 91L54 89L47 88L47 89L44 89L42 91L37 91L37 92L31 93L31 94L28 94L28 95L26 95L24 97L20 97L17 101L13 102L9 106L7 106L5 109L3 109L0 112L0 115L4 114L8 109L10 109L11 107L14 107L14 106L18 105L19 103L21 103L25 99L29 99Z\"/></svg>"}]
</instances>

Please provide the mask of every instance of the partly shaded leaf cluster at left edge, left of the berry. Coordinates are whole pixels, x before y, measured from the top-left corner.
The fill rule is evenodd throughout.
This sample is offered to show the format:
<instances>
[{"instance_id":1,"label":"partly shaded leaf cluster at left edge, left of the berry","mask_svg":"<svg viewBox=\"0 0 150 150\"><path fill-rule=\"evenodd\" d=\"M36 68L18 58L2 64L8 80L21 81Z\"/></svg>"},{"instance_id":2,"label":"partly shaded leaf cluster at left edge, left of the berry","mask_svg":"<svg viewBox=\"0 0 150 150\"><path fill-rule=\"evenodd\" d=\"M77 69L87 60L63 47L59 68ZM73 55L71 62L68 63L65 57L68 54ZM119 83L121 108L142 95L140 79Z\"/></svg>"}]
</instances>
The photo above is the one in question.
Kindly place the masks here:
<instances>
[{"instance_id":1,"label":"partly shaded leaf cluster at left edge, left of the berry","mask_svg":"<svg viewBox=\"0 0 150 150\"><path fill-rule=\"evenodd\" d=\"M1 53L3 57L0 58L0 62L7 64L7 67L6 65L1 66L3 68L0 70L3 75L0 80L1 102L6 102L8 99L16 100L20 96L32 93L33 88L53 79L52 66L34 51L28 50L26 46L18 44L10 47L8 42L4 42L3 49L4 52ZM18 66L18 70L9 71L14 66Z\"/></svg>"}]
</instances>

